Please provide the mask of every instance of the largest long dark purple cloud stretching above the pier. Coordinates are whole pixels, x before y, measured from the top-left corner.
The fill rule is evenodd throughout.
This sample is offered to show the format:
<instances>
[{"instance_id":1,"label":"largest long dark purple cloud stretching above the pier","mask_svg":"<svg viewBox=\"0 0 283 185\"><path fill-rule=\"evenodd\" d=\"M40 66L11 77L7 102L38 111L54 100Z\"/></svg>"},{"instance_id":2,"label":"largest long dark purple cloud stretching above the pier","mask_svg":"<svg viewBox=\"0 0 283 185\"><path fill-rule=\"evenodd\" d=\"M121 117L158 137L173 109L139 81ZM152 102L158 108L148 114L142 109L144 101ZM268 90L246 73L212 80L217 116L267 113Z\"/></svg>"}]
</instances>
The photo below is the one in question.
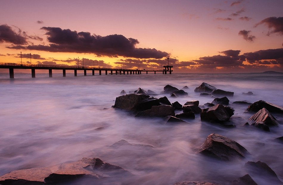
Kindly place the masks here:
<instances>
[{"instance_id":1,"label":"largest long dark purple cloud stretching above the pier","mask_svg":"<svg viewBox=\"0 0 283 185\"><path fill-rule=\"evenodd\" d=\"M156 58L166 57L168 53L155 48L136 48L138 40L123 35L91 35L89 32L76 32L70 29L42 27L46 31L50 45L29 45L26 49L50 52L94 53L97 56ZM9 48L18 48L12 46Z\"/></svg>"}]
</instances>

